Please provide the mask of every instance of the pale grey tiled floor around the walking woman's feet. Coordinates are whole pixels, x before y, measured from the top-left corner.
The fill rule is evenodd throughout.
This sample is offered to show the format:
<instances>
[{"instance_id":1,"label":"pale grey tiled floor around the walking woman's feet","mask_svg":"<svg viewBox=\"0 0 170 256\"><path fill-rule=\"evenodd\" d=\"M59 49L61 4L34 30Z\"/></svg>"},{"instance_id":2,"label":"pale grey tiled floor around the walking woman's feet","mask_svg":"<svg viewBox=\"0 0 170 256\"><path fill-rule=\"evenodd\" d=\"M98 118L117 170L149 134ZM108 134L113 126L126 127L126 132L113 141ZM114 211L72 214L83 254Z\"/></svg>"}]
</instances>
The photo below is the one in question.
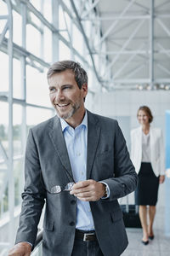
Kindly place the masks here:
<instances>
[{"instance_id":1,"label":"pale grey tiled floor around the walking woman's feet","mask_svg":"<svg viewBox=\"0 0 170 256\"><path fill-rule=\"evenodd\" d=\"M141 242L141 229L127 229L129 244L122 256L170 256L170 236L165 234L164 209L165 207L157 206L154 223L155 238L147 246Z\"/></svg>"}]
</instances>

